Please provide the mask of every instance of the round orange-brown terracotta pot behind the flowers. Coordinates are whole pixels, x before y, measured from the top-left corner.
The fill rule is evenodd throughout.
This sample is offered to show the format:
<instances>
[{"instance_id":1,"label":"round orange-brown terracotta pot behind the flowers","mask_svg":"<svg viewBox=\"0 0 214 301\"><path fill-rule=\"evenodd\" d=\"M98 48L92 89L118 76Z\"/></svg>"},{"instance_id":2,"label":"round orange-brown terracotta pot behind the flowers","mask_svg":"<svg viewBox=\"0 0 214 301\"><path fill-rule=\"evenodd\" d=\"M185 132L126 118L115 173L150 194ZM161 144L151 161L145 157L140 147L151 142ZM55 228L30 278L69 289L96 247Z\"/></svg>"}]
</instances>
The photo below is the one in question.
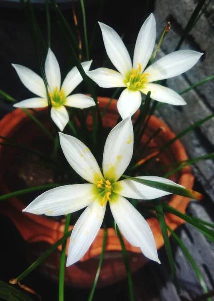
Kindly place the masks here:
<instances>
[{"instance_id":1,"label":"round orange-brown terracotta pot behind the flowers","mask_svg":"<svg viewBox=\"0 0 214 301\"><path fill-rule=\"evenodd\" d=\"M99 106L101 110L106 106L108 101L109 98L99 98ZM118 112L116 108L116 100L113 100L103 118L104 127L113 128L116 124L117 118ZM91 120L89 118L88 125L90 124ZM145 135L143 136L142 143L144 143L159 127L162 127L163 130L151 141L149 147L161 147L162 144L175 136L165 123L155 116L152 116L148 123ZM43 133L22 110L15 109L12 113L9 113L0 121L0 135L9 137L18 143L30 146L34 136L36 135L38 137L39 135L43 135ZM8 166L12 164L13 158L15 158L18 152L20 152L20 150L17 148L0 145L0 183L1 193L3 194L10 192L8 188L8 180L5 179L4 176ZM160 155L159 159L162 163L169 164L175 161L186 160L188 157L181 142L177 140ZM194 182L194 176L191 174L189 167L183 168L179 173L173 175L171 179L186 188L192 188ZM32 199L29 200L29 202L31 201ZM170 205L182 212L185 212L188 203L188 198L178 195L173 195L170 199ZM27 256L29 260L34 261L50 245L54 244L63 236L64 223L53 221L46 216L39 216L25 212L23 213L23 208L25 208L25 205L17 197L12 197L9 201L0 203L0 212L7 215L13 221L23 239L28 243ZM171 214L166 214L165 219L172 229L176 229L178 225L184 222ZM155 218L149 218L147 222L151 227L156 241L156 246L159 249L164 244L159 224ZM72 229L72 227L73 226L70 226L70 229ZM66 268L66 284L82 288L91 287L96 274L99 255L102 250L102 241L103 229L100 229L90 249L80 262ZM67 240L67 247L68 244L69 239ZM133 247L126 240L125 245L130 255L131 271L135 272L140 269L148 261L148 259L142 255L139 248ZM61 246L59 246L58 250L52 253L51 256L49 256L39 266L40 271L44 275L51 277L53 280L58 279L60 249ZM115 283L125 278L125 276L126 272L119 239L115 236L114 229L108 228L106 252L98 280L98 287Z\"/></svg>"}]
</instances>

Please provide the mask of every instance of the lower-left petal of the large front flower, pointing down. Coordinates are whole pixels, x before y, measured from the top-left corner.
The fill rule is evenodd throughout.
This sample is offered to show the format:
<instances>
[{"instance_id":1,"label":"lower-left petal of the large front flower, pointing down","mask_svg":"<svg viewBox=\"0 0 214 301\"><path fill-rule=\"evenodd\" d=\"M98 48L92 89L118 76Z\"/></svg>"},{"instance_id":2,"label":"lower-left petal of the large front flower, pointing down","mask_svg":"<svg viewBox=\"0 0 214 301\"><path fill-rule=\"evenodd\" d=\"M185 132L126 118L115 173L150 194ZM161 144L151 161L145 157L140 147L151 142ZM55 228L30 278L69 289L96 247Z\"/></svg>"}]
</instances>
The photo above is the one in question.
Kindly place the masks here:
<instances>
[{"instance_id":1,"label":"lower-left petal of the large front flower, pointing down","mask_svg":"<svg viewBox=\"0 0 214 301\"><path fill-rule=\"evenodd\" d=\"M96 237L104 218L106 205L93 201L76 222L71 237L67 256L67 266L80 260Z\"/></svg>"}]
</instances>

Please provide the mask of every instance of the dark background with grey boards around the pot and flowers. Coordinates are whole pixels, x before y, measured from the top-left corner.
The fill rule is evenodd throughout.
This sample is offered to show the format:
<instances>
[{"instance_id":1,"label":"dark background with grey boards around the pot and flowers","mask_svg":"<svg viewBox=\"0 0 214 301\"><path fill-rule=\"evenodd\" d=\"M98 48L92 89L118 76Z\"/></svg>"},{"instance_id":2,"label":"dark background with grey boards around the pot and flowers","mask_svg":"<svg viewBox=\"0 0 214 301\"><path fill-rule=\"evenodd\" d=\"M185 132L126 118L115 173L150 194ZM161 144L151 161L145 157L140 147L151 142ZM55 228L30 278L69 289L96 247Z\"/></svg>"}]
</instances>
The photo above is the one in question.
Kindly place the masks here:
<instances>
[{"instance_id":1,"label":"dark background with grey boards around the pot and flowers","mask_svg":"<svg viewBox=\"0 0 214 301\"><path fill-rule=\"evenodd\" d=\"M68 23L73 27L73 15L71 2L59 2ZM75 1L75 9L79 22L80 32L83 33L81 10L78 1ZM127 46L131 57L138 31L145 18L154 12L157 21L157 32L161 33L166 21L171 21L172 29L167 35L162 45L159 56L174 50L183 29L195 8L197 1L135 1L123 2L104 0L102 12L100 14L100 2L96 0L85 1L88 40L91 40L91 32L97 21L102 21L113 27L120 35L124 34L124 43ZM44 5L37 2L34 5L35 15L41 27L44 37L46 37L46 14ZM176 77L168 81L168 84L175 91L181 91L189 84L195 83L202 78L213 73L213 6L210 4L204 10L195 28L188 35L183 49L189 48L204 52L202 60L184 76ZM83 39L83 35L82 35ZM30 38L29 26L22 6L16 2L0 2L0 89L10 94L17 101L29 98L29 92L20 82L11 63L17 63L29 67L40 74L36 60L36 53ZM73 66L69 61L67 44L63 38L57 18L51 10L51 48L54 51L62 71L62 79L67 73L68 66ZM100 67L107 59L103 46L101 31L96 29L96 39L91 49L93 59L91 69ZM107 65L111 67L110 62ZM84 86L82 85L84 90ZM114 89L97 88L100 96L111 96ZM85 90L85 92L87 92ZM184 99L188 102L182 108L164 106L158 113L158 117L163 119L176 133L182 131L190 124L207 116L213 112L213 81L204 84L194 91L184 94ZM11 104L1 101L0 117L12 110ZM200 128L182 139L190 157L204 155L214 151L214 127L209 121ZM213 220L213 161L200 162L193 167L196 176L195 190L204 194L201 203L192 201L188 207L188 213L194 214L206 220ZM28 267L25 258L25 243L8 218L0 216L1 229L1 249L0 249L0 279L8 281L17 277ZM206 284L209 289L214 287L214 264L213 246L189 225L181 226L177 234L183 239L189 251L197 262ZM136 300L188 300L202 293L201 287L186 261L181 250L171 239L172 249L175 256L178 278L181 285L181 296L178 297L172 283L171 274L168 268L165 250L159 252L161 266L149 262L142 270L133 275L133 285ZM58 285L43 278L36 271L27 276L23 283L38 294L42 300L57 300ZM65 300L86 300L89 290L66 288ZM33 298L33 296L32 296ZM94 300L129 300L127 281L121 281L113 286L97 289ZM34 297L36 300L37 298Z\"/></svg>"}]
</instances>

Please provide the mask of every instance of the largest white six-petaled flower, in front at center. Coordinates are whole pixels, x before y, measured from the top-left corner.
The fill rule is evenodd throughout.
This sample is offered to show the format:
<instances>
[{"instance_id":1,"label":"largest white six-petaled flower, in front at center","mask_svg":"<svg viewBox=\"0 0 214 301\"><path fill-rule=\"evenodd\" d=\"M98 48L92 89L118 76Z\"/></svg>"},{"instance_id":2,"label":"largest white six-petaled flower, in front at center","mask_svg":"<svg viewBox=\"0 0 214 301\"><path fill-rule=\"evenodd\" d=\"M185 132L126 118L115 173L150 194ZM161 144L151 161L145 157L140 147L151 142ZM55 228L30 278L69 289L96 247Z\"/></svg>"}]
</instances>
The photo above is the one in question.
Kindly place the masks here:
<instances>
[{"instance_id":1,"label":"largest white six-petaled flower, in front at center","mask_svg":"<svg viewBox=\"0 0 214 301\"><path fill-rule=\"evenodd\" d=\"M88 206L73 228L67 266L80 260L90 247L102 225L108 201L124 237L135 247L140 247L146 257L160 263L148 223L125 197L154 199L170 193L129 179L118 181L133 155L133 126L130 117L117 124L107 137L103 174L93 154L77 138L60 133L60 144L71 167L90 183L53 188L37 197L23 211L57 216ZM160 177L138 178L178 185Z\"/></svg>"}]
</instances>

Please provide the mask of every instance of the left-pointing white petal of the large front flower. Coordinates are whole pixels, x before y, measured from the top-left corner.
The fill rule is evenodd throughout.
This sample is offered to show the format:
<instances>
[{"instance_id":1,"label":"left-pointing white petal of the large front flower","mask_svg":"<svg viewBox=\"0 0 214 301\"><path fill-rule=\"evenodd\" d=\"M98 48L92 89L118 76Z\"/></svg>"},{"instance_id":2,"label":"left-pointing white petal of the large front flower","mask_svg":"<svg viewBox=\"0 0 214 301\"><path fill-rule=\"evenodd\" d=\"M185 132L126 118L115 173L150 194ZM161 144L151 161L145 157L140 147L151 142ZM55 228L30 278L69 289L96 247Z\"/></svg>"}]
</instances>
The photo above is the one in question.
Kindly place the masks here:
<instances>
[{"instance_id":1,"label":"left-pointing white petal of the large front flower","mask_svg":"<svg viewBox=\"0 0 214 301\"><path fill-rule=\"evenodd\" d=\"M38 196L23 211L57 216L75 212L94 199L93 184L65 185L50 189Z\"/></svg>"}]
</instances>

